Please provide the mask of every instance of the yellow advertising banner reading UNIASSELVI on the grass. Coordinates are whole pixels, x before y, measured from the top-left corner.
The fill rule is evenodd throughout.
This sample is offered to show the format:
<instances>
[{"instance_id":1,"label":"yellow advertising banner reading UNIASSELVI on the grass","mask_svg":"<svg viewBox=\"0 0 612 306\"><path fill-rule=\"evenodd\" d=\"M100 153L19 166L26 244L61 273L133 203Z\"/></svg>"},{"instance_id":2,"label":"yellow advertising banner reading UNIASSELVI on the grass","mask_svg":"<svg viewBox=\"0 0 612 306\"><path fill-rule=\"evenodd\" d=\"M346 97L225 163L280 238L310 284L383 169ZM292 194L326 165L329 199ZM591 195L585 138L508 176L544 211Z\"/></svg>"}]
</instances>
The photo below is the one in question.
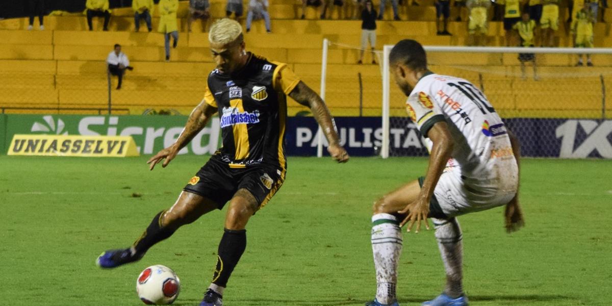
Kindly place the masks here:
<instances>
[{"instance_id":1,"label":"yellow advertising banner reading UNIASSELVI on the grass","mask_svg":"<svg viewBox=\"0 0 612 306\"><path fill-rule=\"evenodd\" d=\"M9 155L138 156L132 136L14 135Z\"/></svg>"}]
</instances>

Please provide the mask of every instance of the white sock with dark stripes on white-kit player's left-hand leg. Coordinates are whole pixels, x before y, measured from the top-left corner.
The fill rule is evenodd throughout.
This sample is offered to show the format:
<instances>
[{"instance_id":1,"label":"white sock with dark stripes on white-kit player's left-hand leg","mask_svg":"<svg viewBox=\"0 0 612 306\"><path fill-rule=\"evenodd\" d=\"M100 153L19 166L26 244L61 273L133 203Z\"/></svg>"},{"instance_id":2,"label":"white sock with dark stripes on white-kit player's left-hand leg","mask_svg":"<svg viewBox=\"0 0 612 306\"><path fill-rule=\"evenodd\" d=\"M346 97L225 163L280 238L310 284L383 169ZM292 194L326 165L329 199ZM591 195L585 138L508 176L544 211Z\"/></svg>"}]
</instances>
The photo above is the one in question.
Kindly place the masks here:
<instances>
[{"instance_id":1,"label":"white sock with dark stripes on white-kit player's left-hand leg","mask_svg":"<svg viewBox=\"0 0 612 306\"><path fill-rule=\"evenodd\" d=\"M394 215L372 216L372 252L376 268L376 300L381 304L395 302L397 266L401 255L401 229Z\"/></svg>"}]
</instances>

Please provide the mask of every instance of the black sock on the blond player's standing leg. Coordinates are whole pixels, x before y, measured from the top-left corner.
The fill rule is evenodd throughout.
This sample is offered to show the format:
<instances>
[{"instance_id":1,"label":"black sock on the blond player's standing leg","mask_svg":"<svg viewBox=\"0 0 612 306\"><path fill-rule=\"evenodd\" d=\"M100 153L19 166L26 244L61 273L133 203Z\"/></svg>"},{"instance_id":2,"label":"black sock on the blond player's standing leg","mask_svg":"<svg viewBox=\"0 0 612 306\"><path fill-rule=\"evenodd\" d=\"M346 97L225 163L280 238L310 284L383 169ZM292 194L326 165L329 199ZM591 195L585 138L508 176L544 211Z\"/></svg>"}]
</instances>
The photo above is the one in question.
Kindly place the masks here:
<instances>
[{"instance_id":1,"label":"black sock on the blond player's standing leg","mask_svg":"<svg viewBox=\"0 0 612 306\"><path fill-rule=\"evenodd\" d=\"M234 271L245 248L247 248L247 230L225 229L219 242L217 267L212 275L212 283L226 287L231 272Z\"/></svg>"}]
</instances>

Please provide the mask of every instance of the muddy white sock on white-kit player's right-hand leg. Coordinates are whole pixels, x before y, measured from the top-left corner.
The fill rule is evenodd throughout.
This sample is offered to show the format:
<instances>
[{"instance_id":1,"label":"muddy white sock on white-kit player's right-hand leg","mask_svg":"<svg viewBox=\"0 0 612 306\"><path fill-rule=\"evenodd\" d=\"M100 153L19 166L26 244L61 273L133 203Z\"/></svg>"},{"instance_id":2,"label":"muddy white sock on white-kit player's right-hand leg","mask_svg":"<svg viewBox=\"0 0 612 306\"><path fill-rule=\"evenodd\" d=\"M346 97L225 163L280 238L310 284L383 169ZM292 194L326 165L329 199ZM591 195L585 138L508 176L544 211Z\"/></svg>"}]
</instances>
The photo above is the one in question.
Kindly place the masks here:
<instances>
[{"instance_id":1,"label":"muddy white sock on white-kit player's right-hand leg","mask_svg":"<svg viewBox=\"0 0 612 306\"><path fill-rule=\"evenodd\" d=\"M450 297L463 294L463 235L457 218L449 220L432 218L436 228L436 240L444 269L446 269L446 287L444 293Z\"/></svg>"}]
</instances>

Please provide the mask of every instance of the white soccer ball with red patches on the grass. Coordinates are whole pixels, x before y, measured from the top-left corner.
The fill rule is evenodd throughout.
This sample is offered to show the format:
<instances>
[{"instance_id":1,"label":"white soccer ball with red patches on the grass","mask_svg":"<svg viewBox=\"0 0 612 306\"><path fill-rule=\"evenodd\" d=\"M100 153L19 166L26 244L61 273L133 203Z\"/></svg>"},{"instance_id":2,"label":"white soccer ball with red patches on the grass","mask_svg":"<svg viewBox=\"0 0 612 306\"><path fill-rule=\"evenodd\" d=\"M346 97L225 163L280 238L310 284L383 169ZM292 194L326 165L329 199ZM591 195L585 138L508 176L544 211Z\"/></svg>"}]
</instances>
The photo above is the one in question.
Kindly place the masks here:
<instances>
[{"instance_id":1,"label":"white soccer ball with red patches on the grass","mask_svg":"<svg viewBox=\"0 0 612 306\"><path fill-rule=\"evenodd\" d=\"M136 293L147 305L172 304L181 291L179 277L169 267L156 264L138 275Z\"/></svg>"}]
</instances>

